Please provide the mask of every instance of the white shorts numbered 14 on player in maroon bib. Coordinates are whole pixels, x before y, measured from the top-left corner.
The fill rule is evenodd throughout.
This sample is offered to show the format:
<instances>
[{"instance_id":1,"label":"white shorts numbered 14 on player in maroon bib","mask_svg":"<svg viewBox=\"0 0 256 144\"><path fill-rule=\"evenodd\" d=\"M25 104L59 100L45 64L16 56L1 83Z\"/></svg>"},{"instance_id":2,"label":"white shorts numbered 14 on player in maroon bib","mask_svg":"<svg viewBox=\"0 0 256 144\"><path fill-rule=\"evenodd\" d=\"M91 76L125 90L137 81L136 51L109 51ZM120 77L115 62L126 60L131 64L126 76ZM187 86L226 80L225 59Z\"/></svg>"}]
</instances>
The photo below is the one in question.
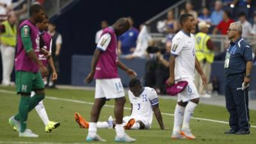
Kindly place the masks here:
<instances>
[{"instance_id":1,"label":"white shorts numbered 14 on player in maroon bib","mask_svg":"<svg viewBox=\"0 0 256 144\"><path fill-rule=\"evenodd\" d=\"M96 79L95 99L117 99L124 96L124 88L120 78Z\"/></svg>"}]
</instances>

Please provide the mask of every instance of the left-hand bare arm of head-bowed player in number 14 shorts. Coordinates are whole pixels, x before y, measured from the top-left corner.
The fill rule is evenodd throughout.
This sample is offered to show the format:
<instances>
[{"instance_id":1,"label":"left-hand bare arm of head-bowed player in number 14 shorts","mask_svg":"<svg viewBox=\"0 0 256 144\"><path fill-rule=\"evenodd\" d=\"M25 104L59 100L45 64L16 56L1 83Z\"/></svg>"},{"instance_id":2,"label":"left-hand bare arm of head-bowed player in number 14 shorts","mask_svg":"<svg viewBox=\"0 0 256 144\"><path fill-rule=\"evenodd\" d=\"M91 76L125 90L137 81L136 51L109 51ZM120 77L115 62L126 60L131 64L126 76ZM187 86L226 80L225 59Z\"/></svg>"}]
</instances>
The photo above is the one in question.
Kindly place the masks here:
<instances>
[{"instance_id":1,"label":"left-hand bare arm of head-bowed player in number 14 shorts","mask_svg":"<svg viewBox=\"0 0 256 144\"><path fill-rule=\"evenodd\" d=\"M100 58L100 53L101 53L101 51L99 49L95 49L95 51L93 53L93 57L92 57L91 72L84 79L85 83L91 83L91 81L93 80L93 76L95 74L95 69L96 69L97 63L98 63L99 58Z\"/></svg>"}]
</instances>

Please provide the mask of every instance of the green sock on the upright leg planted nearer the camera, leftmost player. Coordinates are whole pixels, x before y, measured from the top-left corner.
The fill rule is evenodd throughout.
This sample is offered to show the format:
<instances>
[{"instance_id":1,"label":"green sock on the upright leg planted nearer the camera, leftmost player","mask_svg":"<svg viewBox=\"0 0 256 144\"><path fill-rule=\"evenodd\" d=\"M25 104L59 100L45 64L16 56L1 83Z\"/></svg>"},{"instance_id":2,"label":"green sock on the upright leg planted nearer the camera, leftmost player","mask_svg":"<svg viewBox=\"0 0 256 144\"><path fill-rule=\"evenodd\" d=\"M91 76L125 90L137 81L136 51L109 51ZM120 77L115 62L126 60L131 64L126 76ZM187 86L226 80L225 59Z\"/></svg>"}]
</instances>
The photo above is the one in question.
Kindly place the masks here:
<instances>
[{"instance_id":1,"label":"green sock on the upright leg planted nearer the camera, leftmost player","mask_svg":"<svg viewBox=\"0 0 256 144\"><path fill-rule=\"evenodd\" d=\"M27 128L26 121L28 119L29 100L30 100L29 96L21 96L20 97L19 114L17 114L15 116L15 117L19 118L19 120L20 120L20 132L24 132Z\"/></svg>"}]
</instances>

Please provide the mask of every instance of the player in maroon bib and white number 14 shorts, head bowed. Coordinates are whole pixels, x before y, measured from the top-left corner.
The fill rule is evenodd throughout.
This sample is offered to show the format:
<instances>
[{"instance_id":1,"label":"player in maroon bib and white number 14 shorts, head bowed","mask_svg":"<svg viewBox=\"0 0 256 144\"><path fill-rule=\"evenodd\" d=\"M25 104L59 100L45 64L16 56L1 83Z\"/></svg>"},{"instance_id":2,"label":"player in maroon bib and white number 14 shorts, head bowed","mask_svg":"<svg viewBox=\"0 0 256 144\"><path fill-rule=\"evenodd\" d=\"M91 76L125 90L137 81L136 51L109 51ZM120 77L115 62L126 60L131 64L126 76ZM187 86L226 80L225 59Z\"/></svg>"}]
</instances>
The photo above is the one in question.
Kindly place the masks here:
<instances>
[{"instance_id":1,"label":"player in maroon bib and white number 14 shorts, head bowed","mask_svg":"<svg viewBox=\"0 0 256 144\"><path fill-rule=\"evenodd\" d=\"M127 18L118 19L113 26L105 28L100 37L92 59L91 72L86 77L86 83L90 83L93 77L96 79L95 100L91 111L91 121L86 141L106 141L97 134L96 123L100 110L107 99L115 99L116 138L115 141L132 142L122 125L124 114L125 94L121 79L118 77L117 67L121 68L129 76L136 76L136 72L127 68L117 54L116 36L122 35L130 28Z\"/></svg>"}]
</instances>

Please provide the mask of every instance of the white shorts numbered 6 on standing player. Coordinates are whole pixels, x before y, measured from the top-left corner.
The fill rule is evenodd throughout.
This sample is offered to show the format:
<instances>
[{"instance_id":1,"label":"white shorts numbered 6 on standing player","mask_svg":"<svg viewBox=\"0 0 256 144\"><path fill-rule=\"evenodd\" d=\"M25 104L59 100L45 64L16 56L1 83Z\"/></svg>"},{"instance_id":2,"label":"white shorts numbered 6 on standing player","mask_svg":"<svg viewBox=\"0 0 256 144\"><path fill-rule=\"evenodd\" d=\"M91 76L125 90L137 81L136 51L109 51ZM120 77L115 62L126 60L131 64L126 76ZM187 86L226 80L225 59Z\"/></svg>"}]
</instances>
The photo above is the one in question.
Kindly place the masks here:
<instances>
[{"instance_id":1,"label":"white shorts numbered 6 on standing player","mask_svg":"<svg viewBox=\"0 0 256 144\"><path fill-rule=\"evenodd\" d=\"M195 83L192 79L185 78L180 81L188 81L188 86L182 92L178 93L178 102L188 102L191 99L199 98Z\"/></svg>"}]
</instances>

